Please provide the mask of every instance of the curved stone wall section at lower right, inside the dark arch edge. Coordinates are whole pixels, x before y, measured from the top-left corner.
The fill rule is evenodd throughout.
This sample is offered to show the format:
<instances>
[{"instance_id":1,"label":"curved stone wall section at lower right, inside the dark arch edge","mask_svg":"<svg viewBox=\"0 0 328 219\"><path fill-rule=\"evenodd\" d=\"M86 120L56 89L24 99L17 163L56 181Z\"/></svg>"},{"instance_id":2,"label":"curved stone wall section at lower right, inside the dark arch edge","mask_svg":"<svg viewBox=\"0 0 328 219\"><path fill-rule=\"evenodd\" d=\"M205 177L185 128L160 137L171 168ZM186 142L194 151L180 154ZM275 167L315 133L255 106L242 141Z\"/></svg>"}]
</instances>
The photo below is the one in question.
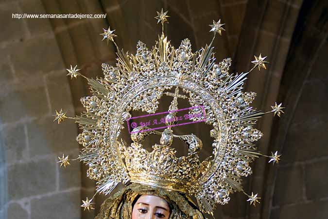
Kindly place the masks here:
<instances>
[{"instance_id":1,"label":"curved stone wall section at lower right, inside the dark arch edge","mask_svg":"<svg viewBox=\"0 0 328 219\"><path fill-rule=\"evenodd\" d=\"M328 215L328 44L320 49L286 133L276 175L272 219L315 218Z\"/></svg>"}]
</instances>

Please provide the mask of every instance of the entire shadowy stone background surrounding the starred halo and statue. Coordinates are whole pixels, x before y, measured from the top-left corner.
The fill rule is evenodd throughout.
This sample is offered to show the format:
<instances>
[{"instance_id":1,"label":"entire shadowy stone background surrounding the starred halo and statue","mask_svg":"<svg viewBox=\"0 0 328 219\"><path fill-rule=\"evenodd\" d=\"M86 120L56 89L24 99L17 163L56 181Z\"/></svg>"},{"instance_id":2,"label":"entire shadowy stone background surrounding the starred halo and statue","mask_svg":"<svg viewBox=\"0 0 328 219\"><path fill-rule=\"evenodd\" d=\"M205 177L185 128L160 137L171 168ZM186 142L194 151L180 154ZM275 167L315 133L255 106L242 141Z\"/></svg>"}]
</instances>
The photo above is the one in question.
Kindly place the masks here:
<instances>
[{"instance_id":1,"label":"entire shadowy stone background surrounding the starred halo and statue","mask_svg":"<svg viewBox=\"0 0 328 219\"><path fill-rule=\"evenodd\" d=\"M83 78L70 80L66 68L77 64L95 78L102 63L116 62L115 47L99 35L108 25L124 50L135 53L138 40L152 47L160 33L154 16L162 7L171 16L165 32L173 46L188 37L193 51L210 42L208 25L221 18L226 31L214 40L217 61L231 57L231 71L242 72L253 55L268 56L267 70L252 72L246 90L257 93L258 109L268 111L275 102L286 107L280 119L266 115L258 125L264 133L259 151L282 154L275 166L259 158L244 180L244 190L259 193L261 203L249 206L243 194L233 194L215 218L326 219L327 0L0 0L0 219L94 218L104 197L96 197L91 212L80 208L94 192L86 167L56 164L63 153L77 156L79 130L72 121L52 123L54 109L79 114L79 100L88 94ZM16 13L107 16L15 19ZM208 154L209 130L190 126Z\"/></svg>"}]
</instances>

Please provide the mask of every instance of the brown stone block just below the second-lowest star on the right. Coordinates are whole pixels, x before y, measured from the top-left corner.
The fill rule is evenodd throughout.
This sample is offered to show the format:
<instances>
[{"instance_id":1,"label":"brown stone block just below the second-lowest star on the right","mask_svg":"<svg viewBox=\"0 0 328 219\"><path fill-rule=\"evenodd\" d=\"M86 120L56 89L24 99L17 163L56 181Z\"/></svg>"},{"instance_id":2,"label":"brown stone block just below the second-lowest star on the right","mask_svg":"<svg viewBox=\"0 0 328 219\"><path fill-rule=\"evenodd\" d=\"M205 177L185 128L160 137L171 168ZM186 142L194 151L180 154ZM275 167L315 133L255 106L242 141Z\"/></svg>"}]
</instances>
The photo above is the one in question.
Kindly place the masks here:
<instances>
[{"instance_id":1,"label":"brown stone block just below the second-lowest star on the right","mask_svg":"<svg viewBox=\"0 0 328 219\"><path fill-rule=\"evenodd\" d=\"M300 166L279 167L273 197L273 206L302 201L303 181L303 173Z\"/></svg>"}]
</instances>

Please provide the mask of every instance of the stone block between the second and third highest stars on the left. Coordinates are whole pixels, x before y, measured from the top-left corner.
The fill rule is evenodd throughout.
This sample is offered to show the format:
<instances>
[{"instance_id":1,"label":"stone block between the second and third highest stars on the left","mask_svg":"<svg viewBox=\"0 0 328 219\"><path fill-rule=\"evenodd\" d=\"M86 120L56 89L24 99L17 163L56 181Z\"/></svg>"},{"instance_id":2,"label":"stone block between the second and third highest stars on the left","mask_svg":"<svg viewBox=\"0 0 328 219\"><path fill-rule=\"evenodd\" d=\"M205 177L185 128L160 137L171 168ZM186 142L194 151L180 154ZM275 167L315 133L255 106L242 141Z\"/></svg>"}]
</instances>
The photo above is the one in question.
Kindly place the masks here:
<instances>
[{"instance_id":1,"label":"stone block between the second and third highest stars on the left","mask_svg":"<svg viewBox=\"0 0 328 219\"><path fill-rule=\"evenodd\" d=\"M63 109L69 113L74 113L68 82L69 77L66 76L66 73L53 73L46 75L45 78L51 109L53 111Z\"/></svg>"}]
</instances>

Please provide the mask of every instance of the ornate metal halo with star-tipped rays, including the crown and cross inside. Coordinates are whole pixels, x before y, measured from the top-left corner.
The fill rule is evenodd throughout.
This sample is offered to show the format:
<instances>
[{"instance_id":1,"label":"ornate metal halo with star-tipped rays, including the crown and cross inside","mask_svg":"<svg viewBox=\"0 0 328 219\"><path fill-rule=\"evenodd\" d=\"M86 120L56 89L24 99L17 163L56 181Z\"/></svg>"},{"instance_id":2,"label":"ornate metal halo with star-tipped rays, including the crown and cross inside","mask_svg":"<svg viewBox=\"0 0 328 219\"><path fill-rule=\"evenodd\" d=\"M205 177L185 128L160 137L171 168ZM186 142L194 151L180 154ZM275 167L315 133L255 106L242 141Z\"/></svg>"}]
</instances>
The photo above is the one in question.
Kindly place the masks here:
<instances>
[{"instance_id":1,"label":"ornate metal halo with star-tipped rays, including the crown and cross inside","mask_svg":"<svg viewBox=\"0 0 328 219\"><path fill-rule=\"evenodd\" d=\"M189 39L184 39L174 48L164 35L164 23L168 22L167 12L157 12L155 17L162 24L162 33L150 50L141 41L137 54L121 50L115 43L115 30L104 29L103 40L113 42L117 47L117 64L103 63L104 78L86 78L81 69L70 66L67 69L71 78L81 76L90 85L92 96L81 98L86 111L74 118L66 112L56 110L58 124L66 118L74 119L83 130L76 140L82 145L76 158L88 167L87 176L97 181L97 193L109 194L119 184L138 183L156 188L186 193L197 199L203 213L213 214L217 204L226 204L229 194L243 192L250 204L259 203L258 194L246 194L242 188L243 176L252 173L249 164L262 155L254 144L262 133L254 126L258 119L268 112L253 109L250 105L256 94L243 92L246 76L255 68L266 69L266 57L261 54L254 67L241 74L230 74L231 59L216 63L212 42L216 33L222 34L224 24L213 21L210 31L214 32L212 42L196 52L191 51ZM174 93L167 92L175 89ZM179 94L182 91L183 94ZM167 128L163 132L145 126L136 127L131 145L120 138L123 124L131 118L132 110L155 113L162 95L173 97L166 116ZM213 129L210 136L212 156L199 160L202 141L197 136L173 134L174 119L178 109L178 98L188 99L192 107L203 106L204 116L191 117L191 120L205 120ZM274 115L283 113L280 104L272 106ZM192 108L190 115L199 113ZM171 120L172 121L172 120ZM153 145L153 151L143 148L147 135L161 135L160 142ZM178 138L188 146L188 155L176 157L171 144ZM278 163L277 152L269 157L269 163ZM76 160L75 159L75 160ZM60 166L69 165L69 157L59 157ZM81 205L93 209L92 200L86 198Z\"/></svg>"}]
</instances>

